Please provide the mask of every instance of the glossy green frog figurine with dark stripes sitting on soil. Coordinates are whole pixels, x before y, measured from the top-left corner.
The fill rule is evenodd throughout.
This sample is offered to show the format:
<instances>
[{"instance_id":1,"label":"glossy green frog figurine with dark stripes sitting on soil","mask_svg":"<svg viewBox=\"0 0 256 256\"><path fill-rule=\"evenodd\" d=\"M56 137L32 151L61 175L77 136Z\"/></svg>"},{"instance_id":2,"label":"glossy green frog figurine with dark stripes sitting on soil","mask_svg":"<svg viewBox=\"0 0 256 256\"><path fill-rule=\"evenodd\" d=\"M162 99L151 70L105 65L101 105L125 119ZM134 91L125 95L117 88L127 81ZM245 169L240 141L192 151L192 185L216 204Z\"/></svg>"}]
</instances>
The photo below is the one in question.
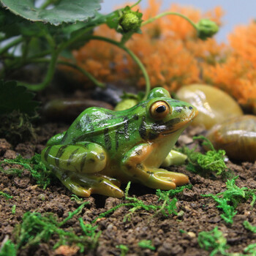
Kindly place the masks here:
<instances>
[{"instance_id":1,"label":"glossy green frog figurine with dark stripes sitting on soil","mask_svg":"<svg viewBox=\"0 0 256 256\"><path fill-rule=\"evenodd\" d=\"M123 197L119 187L127 181L175 189L189 178L159 166L196 115L195 107L172 99L162 88L127 110L87 108L67 132L48 141L42 162L82 197Z\"/></svg>"}]
</instances>

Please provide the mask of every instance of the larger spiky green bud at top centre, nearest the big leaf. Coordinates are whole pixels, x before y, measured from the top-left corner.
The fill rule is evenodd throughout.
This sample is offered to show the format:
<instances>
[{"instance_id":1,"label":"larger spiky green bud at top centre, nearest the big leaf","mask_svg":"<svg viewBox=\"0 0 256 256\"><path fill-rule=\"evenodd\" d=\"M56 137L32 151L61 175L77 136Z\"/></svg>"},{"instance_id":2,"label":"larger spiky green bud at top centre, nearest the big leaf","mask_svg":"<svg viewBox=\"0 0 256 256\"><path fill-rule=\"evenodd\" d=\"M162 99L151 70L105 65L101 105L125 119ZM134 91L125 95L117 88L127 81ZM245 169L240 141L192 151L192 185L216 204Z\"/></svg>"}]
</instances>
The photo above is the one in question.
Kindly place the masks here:
<instances>
[{"instance_id":1,"label":"larger spiky green bud at top centre, nearest the big leaf","mask_svg":"<svg viewBox=\"0 0 256 256\"><path fill-rule=\"evenodd\" d=\"M138 31L142 23L141 17L141 12L133 12L130 7L126 7L124 8L121 17L119 18L118 23L124 33L130 31Z\"/></svg>"}]
</instances>

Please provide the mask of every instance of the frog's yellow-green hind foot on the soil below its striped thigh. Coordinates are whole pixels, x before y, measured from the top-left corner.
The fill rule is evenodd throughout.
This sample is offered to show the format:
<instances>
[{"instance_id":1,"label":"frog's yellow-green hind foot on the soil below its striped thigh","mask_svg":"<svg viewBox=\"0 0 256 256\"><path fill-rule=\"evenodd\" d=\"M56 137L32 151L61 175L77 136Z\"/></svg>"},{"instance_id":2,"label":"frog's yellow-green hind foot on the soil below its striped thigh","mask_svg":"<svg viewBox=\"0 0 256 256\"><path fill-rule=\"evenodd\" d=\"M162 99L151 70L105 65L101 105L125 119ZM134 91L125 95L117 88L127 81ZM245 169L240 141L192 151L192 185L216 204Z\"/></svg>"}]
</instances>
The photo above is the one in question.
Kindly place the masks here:
<instances>
[{"instance_id":1,"label":"frog's yellow-green hind foot on the soil below its striped thigh","mask_svg":"<svg viewBox=\"0 0 256 256\"><path fill-rule=\"evenodd\" d=\"M106 195L121 198L124 192L119 189L120 182L99 174L63 173L55 169L53 172L67 189L80 197L89 197L91 194Z\"/></svg>"}]
</instances>

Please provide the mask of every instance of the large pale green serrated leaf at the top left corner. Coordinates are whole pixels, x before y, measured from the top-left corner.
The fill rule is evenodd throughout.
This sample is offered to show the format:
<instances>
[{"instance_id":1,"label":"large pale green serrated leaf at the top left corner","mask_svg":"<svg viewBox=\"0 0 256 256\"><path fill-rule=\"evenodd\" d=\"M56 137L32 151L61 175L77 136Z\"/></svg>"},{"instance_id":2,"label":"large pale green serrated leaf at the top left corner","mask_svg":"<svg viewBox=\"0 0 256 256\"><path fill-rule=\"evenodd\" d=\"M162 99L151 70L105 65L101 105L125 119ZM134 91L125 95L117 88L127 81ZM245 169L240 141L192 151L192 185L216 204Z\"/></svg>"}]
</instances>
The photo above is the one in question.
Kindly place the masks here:
<instances>
[{"instance_id":1,"label":"large pale green serrated leaf at the top left corner","mask_svg":"<svg viewBox=\"0 0 256 256\"><path fill-rule=\"evenodd\" d=\"M15 15L20 15L27 20L58 26L61 23L89 20L100 9L99 3L102 0L61 0L50 10L35 7L34 0L0 0L0 2Z\"/></svg>"}]
</instances>

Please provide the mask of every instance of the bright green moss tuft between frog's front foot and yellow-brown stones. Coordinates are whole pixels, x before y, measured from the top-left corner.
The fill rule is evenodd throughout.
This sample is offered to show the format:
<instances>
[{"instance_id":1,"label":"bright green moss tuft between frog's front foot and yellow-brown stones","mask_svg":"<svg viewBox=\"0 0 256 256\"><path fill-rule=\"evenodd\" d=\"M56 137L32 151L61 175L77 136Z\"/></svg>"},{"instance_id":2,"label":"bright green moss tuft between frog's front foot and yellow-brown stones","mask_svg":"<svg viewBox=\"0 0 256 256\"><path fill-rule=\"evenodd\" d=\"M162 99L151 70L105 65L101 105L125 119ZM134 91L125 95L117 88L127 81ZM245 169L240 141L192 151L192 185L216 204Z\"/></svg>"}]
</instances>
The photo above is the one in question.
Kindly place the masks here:
<instances>
[{"instance_id":1,"label":"bright green moss tuft between frog's front foot and yellow-brown stones","mask_svg":"<svg viewBox=\"0 0 256 256\"><path fill-rule=\"evenodd\" d=\"M193 138L194 140L203 140L203 145L208 146L211 150L207 151L206 154L201 154L196 152L195 148L189 149L187 147L181 148L181 152L187 154L189 164L187 165L187 170L194 173L216 173L216 175L221 175L227 166L224 162L225 151L214 149L210 140L204 136L197 136Z\"/></svg>"}]
</instances>

